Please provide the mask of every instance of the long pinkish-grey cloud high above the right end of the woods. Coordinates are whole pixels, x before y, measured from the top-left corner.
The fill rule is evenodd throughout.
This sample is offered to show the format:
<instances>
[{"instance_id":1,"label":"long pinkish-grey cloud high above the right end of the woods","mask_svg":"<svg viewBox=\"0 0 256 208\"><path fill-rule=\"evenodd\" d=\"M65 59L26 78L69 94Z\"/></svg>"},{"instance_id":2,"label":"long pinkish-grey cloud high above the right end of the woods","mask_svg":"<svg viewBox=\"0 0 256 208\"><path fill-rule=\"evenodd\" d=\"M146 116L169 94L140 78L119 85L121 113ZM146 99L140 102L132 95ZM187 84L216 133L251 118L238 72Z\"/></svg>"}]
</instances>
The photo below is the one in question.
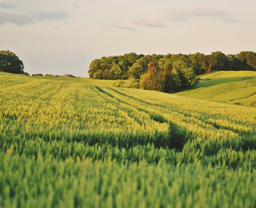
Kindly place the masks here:
<instances>
[{"instance_id":1,"label":"long pinkish-grey cloud high above the right end of the woods","mask_svg":"<svg viewBox=\"0 0 256 208\"><path fill-rule=\"evenodd\" d=\"M214 17L223 18L227 15L222 10L208 9L208 8L194 8L182 10L169 10L169 19L178 22L187 22L193 17Z\"/></svg>"}]
</instances>

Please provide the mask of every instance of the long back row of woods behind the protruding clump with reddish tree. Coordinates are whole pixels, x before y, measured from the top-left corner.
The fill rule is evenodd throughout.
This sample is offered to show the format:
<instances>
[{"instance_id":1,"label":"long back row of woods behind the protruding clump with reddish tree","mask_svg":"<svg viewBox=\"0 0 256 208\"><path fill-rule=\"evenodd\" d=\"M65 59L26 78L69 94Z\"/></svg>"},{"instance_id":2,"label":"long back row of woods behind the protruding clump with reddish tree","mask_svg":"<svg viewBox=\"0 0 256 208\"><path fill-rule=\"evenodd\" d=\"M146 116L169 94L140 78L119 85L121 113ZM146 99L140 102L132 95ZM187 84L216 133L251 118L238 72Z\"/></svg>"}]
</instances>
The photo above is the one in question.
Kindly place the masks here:
<instances>
[{"instance_id":1,"label":"long back row of woods behind the protruding clump with reddish tree","mask_svg":"<svg viewBox=\"0 0 256 208\"><path fill-rule=\"evenodd\" d=\"M137 55L135 53L124 54L123 56L110 56L95 59L91 62L89 76L93 79L138 79L144 74L153 62L163 67L167 60L169 62L182 61L189 64L197 75L210 73L211 71L228 70L256 70L256 54L254 52L240 52L236 55L225 55L217 51L210 55L202 53L195 54L166 54L166 55ZM118 66L116 66L118 65Z\"/></svg>"}]
</instances>

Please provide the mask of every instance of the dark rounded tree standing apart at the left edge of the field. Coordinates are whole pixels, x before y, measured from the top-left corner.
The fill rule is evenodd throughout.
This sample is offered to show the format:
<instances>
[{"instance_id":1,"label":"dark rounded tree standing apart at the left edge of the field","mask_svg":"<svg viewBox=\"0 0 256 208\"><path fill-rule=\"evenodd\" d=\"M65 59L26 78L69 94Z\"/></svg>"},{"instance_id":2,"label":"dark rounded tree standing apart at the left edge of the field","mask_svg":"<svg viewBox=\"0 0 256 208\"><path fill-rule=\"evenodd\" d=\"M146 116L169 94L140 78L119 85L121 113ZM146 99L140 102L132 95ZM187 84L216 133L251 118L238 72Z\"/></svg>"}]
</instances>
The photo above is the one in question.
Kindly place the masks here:
<instances>
[{"instance_id":1,"label":"dark rounded tree standing apart at the left edge of the field","mask_svg":"<svg viewBox=\"0 0 256 208\"><path fill-rule=\"evenodd\" d=\"M0 71L13 74L22 74L24 65L16 54L9 50L0 51Z\"/></svg>"}]
</instances>

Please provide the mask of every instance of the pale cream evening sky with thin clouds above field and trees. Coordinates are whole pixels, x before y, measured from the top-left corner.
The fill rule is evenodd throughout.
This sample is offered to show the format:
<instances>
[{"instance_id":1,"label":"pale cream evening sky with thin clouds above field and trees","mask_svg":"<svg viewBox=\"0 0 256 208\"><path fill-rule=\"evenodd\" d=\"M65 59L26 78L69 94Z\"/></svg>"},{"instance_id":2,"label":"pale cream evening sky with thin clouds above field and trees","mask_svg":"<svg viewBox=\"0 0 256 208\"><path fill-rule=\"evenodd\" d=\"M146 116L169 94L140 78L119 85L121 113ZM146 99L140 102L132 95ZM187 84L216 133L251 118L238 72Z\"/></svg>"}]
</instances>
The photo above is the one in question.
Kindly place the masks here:
<instances>
[{"instance_id":1,"label":"pale cream evening sky with thin clouds above field and trees","mask_svg":"<svg viewBox=\"0 0 256 208\"><path fill-rule=\"evenodd\" d=\"M256 51L255 0L0 0L0 50L29 74L88 77L102 56Z\"/></svg>"}]
</instances>

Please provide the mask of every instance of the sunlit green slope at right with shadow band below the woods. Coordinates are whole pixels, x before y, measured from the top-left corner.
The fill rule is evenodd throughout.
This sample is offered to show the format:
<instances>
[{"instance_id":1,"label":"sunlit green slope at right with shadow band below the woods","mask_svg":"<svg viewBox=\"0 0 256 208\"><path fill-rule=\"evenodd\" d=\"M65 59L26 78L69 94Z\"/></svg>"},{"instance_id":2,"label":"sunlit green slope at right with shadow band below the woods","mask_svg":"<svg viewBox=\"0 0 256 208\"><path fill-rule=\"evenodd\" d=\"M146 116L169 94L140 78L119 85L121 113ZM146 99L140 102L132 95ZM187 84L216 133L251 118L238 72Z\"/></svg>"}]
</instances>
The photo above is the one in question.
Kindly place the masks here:
<instances>
[{"instance_id":1,"label":"sunlit green slope at right with shadow band below the woods","mask_svg":"<svg viewBox=\"0 0 256 208\"><path fill-rule=\"evenodd\" d=\"M189 98L247 106L256 101L256 72L220 71L202 76L201 79L191 89L176 94Z\"/></svg>"}]
</instances>

